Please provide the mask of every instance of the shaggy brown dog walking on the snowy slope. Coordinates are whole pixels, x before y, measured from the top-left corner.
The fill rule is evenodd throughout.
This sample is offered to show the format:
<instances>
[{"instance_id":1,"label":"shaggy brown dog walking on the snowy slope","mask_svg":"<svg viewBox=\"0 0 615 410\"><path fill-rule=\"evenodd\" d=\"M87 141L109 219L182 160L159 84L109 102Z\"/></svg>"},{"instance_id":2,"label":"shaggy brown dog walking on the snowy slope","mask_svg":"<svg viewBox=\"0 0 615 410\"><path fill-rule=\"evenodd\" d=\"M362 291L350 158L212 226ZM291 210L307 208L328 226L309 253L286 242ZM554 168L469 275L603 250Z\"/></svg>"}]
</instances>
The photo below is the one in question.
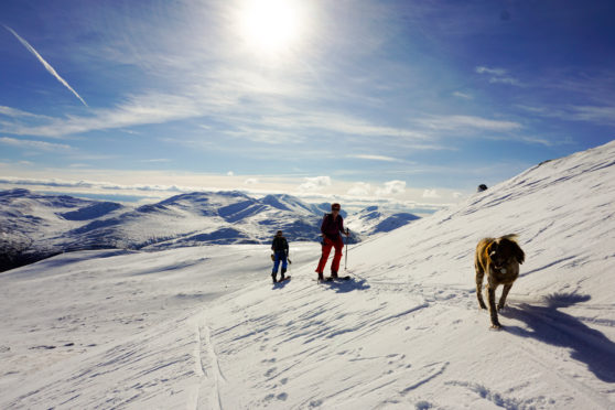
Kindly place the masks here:
<instances>
[{"instance_id":1,"label":"shaggy brown dog walking on the snowy slope","mask_svg":"<svg viewBox=\"0 0 615 410\"><path fill-rule=\"evenodd\" d=\"M500 238L484 238L476 246L474 268L476 269L476 298L482 309L487 309L483 300L483 277L487 273L487 298L492 327L501 327L497 319L497 311L504 308L506 296L512 283L519 277L519 265L524 263L526 255L517 244L517 235L505 235ZM497 287L504 284L499 302L495 304Z\"/></svg>"}]
</instances>

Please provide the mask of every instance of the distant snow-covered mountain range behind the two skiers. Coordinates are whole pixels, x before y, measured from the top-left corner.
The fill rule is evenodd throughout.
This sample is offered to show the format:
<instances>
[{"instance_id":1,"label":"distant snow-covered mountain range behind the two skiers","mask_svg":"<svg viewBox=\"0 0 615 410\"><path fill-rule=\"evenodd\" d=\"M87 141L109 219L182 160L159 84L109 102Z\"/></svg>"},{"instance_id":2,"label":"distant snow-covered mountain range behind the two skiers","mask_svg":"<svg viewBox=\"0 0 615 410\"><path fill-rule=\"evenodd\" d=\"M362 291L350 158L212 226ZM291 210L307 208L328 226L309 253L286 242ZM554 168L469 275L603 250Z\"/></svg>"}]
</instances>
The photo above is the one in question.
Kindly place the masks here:
<instances>
[{"instance_id":1,"label":"distant snow-covered mountain range behind the two skiers","mask_svg":"<svg viewBox=\"0 0 615 410\"><path fill-rule=\"evenodd\" d=\"M0 271L75 250L266 244L278 229L292 241L319 240L320 223L330 208L291 195L255 198L236 191L182 194L142 206L3 191ZM402 226L412 220L407 215L362 215L367 228L354 224L358 230L350 242Z\"/></svg>"}]
</instances>

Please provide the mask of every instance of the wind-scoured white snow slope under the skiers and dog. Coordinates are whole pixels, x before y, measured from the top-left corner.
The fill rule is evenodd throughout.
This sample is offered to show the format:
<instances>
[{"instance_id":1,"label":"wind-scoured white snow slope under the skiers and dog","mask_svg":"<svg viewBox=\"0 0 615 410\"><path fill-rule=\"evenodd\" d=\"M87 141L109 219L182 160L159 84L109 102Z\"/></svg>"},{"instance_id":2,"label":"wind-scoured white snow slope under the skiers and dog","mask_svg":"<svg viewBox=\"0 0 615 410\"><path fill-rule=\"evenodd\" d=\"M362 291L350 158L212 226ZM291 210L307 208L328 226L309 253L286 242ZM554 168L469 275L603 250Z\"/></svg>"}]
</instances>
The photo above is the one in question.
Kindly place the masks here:
<instances>
[{"instance_id":1,"label":"wind-scoured white snow slope under the skiers and dog","mask_svg":"<svg viewBox=\"0 0 615 410\"><path fill-rule=\"evenodd\" d=\"M259 246L4 272L0 408L613 409L614 176L615 143L535 166L353 246L348 282L295 244L280 285ZM490 331L473 253L509 233L527 258Z\"/></svg>"}]
</instances>

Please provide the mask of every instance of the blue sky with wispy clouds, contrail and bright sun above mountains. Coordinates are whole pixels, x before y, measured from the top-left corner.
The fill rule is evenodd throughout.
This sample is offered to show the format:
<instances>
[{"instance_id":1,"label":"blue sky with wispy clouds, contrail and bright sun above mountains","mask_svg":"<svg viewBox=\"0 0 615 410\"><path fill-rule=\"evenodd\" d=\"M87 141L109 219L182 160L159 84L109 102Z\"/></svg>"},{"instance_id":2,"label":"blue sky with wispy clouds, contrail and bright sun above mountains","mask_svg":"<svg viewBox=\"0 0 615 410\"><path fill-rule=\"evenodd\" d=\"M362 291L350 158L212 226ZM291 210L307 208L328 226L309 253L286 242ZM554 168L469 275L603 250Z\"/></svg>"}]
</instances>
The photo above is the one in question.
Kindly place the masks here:
<instances>
[{"instance_id":1,"label":"blue sky with wispy clouds, contrail and bright sun above mountains","mask_svg":"<svg viewBox=\"0 0 615 410\"><path fill-rule=\"evenodd\" d=\"M615 137L613 1L0 2L0 188L449 204Z\"/></svg>"}]
</instances>

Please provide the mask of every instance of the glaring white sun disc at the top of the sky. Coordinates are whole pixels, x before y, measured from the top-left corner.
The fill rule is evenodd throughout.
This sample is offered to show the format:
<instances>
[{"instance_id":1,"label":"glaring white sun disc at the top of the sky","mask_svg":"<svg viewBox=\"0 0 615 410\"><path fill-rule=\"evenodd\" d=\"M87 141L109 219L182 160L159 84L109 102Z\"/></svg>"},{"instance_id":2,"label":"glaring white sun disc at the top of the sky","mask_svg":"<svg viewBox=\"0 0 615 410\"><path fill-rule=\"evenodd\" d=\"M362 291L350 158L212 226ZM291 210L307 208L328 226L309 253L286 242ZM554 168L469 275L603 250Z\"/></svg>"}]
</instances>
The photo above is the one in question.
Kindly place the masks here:
<instances>
[{"instance_id":1,"label":"glaring white sun disc at the top of the sky","mask_svg":"<svg viewBox=\"0 0 615 410\"><path fill-rule=\"evenodd\" d=\"M240 31L255 51L279 53L301 36L302 15L295 0L246 0Z\"/></svg>"}]
</instances>

